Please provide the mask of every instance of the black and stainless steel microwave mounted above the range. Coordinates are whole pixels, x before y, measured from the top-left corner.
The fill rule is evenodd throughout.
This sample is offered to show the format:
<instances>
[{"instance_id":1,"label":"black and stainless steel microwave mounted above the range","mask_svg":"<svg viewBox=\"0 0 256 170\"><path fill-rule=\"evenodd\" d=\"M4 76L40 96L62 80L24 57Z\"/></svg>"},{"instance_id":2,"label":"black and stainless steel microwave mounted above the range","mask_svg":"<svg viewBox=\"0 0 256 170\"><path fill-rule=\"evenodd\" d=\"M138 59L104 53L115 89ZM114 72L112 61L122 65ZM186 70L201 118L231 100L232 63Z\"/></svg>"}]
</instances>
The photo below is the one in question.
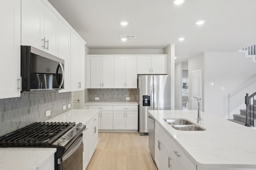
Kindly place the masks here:
<instances>
[{"instance_id":1,"label":"black and stainless steel microwave mounted above the range","mask_svg":"<svg viewBox=\"0 0 256 170\"><path fill-rule=\"evenodd\" d=\"M64 60L21 46L22 92L64 89Z\"/></svg>"}]
</instances>

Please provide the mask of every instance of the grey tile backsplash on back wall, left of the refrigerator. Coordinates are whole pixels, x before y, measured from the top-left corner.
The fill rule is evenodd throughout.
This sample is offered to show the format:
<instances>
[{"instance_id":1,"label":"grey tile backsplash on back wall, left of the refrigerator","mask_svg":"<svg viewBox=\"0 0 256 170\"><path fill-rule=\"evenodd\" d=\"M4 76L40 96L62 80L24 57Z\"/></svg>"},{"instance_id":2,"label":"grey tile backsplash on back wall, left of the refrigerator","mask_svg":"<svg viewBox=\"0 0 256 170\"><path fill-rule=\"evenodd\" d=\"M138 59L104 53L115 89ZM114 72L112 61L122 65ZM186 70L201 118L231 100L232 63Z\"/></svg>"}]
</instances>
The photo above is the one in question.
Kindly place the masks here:
<instances>
[{"instance_id":1,"label":"grey tile backsplash on back wall, left of the refrigerator","mask_svg":"<svg viewBox=\"0 0 256 170\"><path fill-rule=\"evenodd\" d=\"M99 100L95 100L95 98ZM126 100L129 97L130 100ZM88 102L137 102L137 89L136 88L94 88L87 89L85 99Z\"/></svg>"}]
</instances>

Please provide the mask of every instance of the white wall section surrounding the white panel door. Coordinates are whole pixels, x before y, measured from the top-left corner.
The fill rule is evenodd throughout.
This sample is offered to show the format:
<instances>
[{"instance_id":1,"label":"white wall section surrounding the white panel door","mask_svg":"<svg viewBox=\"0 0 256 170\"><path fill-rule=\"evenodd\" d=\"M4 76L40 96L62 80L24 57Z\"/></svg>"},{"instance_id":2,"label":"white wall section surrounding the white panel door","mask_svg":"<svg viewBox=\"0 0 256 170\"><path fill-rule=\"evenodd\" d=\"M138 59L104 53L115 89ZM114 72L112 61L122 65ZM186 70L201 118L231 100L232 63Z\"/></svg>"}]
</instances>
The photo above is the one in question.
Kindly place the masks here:
<instances>
[{"instance_id":1,"label":"white wall section surrounding the white panel door","mask_svg":"<svg viewBox=\"0 0 256 170\"><path fill-rule=\"evenodd\" d=\"M202 84L204 84L204 53L196 55L188 59L188 97L192 97L192 72L202 69ZM204 111L204 86L202 86L202 111ZM188 109L191 109L192 102L188 105Z\"/></svg>"}]
</instances>

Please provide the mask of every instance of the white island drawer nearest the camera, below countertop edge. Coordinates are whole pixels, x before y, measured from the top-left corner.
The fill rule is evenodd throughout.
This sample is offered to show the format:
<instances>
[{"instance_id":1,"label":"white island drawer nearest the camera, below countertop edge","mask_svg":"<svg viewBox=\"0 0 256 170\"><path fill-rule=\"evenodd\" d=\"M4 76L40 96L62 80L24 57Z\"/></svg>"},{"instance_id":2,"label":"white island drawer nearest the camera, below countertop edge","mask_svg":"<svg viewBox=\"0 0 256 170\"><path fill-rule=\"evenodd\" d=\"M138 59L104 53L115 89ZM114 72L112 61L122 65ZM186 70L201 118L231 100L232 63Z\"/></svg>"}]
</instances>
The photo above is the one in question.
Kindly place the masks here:
<instances>
[{"instance_id":1,"label":"white island drawer nearest the camera, below countertop edge","mask_svg":"<svg viewBox=\"0 0 256 170\"><path fill-rule=\"evenodd\" d=\"M196 170L196 164L194 164L182 151L178 145L172 141L172 149L171 149L172 158L178 160L184 170Z\"/></svg>"}]
</instances>

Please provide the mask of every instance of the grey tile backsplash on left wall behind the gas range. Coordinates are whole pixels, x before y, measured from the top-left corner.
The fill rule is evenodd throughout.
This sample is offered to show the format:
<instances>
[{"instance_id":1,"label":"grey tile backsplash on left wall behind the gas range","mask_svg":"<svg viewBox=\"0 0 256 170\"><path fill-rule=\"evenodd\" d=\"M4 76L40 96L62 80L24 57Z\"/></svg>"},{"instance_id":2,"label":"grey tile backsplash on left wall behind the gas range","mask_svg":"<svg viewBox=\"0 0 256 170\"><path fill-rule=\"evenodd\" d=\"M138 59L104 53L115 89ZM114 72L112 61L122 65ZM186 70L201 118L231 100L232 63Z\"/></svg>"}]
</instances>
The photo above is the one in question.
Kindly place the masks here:
<instances>
[{"instance_id":1,"label":"grey tile backsplash on left wall behind the gas range","mask_svg":"<svg viewBox=\"0 0 256 170\"><path fill-rule=\"evenodd\" d=\"M19 98L0 99L0 136L34 122L46 121L71 108L71 92L22 93ZM66 105L66 110L63 106ZM51 115L46 117L46 111Z\"/></svg>"}]
</instances>

